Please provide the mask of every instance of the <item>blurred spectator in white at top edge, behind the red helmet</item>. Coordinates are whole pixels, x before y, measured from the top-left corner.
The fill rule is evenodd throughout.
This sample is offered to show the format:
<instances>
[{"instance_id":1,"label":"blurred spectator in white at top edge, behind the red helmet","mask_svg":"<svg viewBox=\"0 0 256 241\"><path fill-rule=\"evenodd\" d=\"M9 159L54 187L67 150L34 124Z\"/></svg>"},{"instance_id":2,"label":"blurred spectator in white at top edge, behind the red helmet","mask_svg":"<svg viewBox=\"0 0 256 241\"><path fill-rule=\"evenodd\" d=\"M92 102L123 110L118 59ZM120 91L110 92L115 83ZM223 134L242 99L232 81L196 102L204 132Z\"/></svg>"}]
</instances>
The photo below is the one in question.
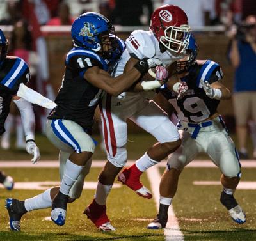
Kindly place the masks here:
<instances>
[{"instance_id":1,"label":"blurred spectator in white at top edge, behind the red helmet","mask_svg":"<svg viewBox=\"0 0 256 241\"><path fill-rule=\"evenodd\" d=\"M176 5L188 15L189 26L210 25L215 18L215 0L164 0L164 4Z\"/></svg>"}]
</instances>

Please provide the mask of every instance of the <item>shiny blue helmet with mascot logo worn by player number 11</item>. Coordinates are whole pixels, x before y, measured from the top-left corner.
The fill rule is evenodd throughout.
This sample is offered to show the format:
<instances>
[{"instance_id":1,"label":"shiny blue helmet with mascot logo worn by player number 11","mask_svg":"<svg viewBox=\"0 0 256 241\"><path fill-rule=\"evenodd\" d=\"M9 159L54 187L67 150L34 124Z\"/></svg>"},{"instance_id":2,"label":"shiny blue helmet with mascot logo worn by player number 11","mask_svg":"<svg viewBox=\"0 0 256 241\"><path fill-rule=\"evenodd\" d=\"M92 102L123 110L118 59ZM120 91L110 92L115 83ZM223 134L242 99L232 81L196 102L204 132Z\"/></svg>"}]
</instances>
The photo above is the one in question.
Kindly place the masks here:
<instances>
[{"instance_id":1,"label":"shiny blue helmet with mascot logo worn by player number 11","mask_svg":"<svg viewBox=\"0 0 256 241\"><path fill-rule=\"evenodd\" d=\"M100 37L114 32L115 27L100 13L88 12L74 20L71 27L71 36L76 47L84 47L95 52L102 49Z\"/></svg>"}]
</instances>

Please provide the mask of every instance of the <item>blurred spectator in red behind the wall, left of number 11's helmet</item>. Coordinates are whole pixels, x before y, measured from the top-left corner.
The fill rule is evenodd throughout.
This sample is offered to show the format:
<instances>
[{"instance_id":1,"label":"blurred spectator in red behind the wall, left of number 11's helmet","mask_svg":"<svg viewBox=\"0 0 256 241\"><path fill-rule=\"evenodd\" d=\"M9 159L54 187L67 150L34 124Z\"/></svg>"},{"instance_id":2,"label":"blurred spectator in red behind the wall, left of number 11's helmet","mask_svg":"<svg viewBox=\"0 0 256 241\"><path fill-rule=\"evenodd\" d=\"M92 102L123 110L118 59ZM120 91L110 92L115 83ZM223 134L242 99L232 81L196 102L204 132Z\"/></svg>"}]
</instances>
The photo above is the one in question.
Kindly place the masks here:
<instances>
[{"instance_id":1,"label":"blurred spectator in red behind the wall, left of number 11's helmet","mask_svg":"<svg viewBox=\"0 0 256 241\"><path fill-rule=\"evenodd\" d=\"M58 17L53 17L47 25L71 25L74 18L70 17L69 7L66 3L60 3L58 6Z\"/></svg>"}]
</instances>

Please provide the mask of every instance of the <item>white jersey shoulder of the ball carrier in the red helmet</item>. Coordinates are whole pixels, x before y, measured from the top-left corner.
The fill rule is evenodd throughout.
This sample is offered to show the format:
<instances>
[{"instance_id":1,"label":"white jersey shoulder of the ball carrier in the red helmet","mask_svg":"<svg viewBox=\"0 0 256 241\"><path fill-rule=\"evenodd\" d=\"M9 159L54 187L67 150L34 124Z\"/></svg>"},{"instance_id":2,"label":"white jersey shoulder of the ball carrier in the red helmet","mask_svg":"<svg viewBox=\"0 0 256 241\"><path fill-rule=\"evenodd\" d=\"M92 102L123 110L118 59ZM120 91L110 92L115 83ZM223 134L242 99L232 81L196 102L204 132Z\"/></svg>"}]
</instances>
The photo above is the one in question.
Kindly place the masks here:
<instances>
[{"instance_id":1,"label":"white jersey shoulder of the ball carrier in the red helmet","mask_svg":"<svg viewBox=\"0 0 256 241\"><path fill-rule=\"evenodd\" d=\"M152 58L156 54L156 47L146 31L136 30L126 40L130 54L135 54L138 59Z\"/></svg>"}]
</instances>

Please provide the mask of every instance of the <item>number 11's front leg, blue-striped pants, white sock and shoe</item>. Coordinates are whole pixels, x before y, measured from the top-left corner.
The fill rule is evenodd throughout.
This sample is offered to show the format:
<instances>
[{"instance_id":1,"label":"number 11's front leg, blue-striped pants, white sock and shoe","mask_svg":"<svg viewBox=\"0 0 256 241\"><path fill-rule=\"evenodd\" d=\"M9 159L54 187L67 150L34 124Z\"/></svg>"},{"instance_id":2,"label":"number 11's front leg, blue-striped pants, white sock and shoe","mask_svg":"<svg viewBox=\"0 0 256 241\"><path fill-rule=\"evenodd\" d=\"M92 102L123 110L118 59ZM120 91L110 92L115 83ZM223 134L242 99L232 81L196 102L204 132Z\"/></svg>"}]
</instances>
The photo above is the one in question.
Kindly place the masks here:
<instances>
[{"instance_id":1,"label":"number 11's front leg, blue-striped pants, white sock and shoe","mask_svg":"<svg viewBox=\"0 0 256 241\"><path fill-rule=\"evenodd\" d=\"M48 139L60 150L67 152L67 146L73 148L66 163L60 190L52 200L52 221L58 225L65 224L68 194L74 182L90 162L95 144L83 128L74 121L48 120L46 125ZM63 148L65 144L65 148Z\"/></svg>"}]
</instances>

